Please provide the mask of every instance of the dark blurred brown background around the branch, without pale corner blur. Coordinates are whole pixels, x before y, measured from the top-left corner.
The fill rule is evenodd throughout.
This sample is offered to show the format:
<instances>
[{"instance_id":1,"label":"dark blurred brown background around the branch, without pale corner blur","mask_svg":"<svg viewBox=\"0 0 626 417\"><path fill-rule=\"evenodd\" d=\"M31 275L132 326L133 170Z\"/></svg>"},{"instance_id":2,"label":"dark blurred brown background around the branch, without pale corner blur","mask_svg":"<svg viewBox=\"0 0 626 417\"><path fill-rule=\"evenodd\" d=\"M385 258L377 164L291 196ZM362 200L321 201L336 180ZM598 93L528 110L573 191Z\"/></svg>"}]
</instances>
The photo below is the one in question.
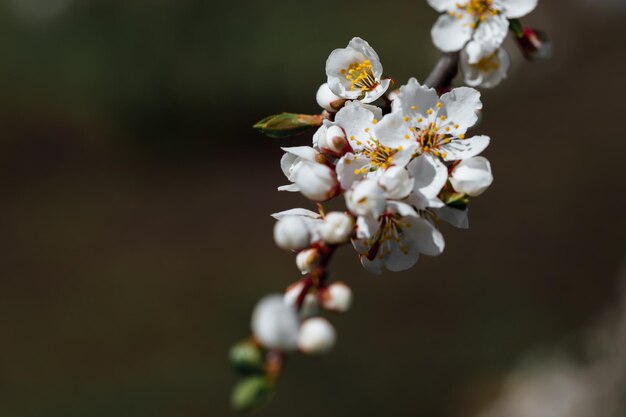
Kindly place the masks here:
<instances>
[{"instance_id":1,"label":"dark blurred brown background around the branch, without pale corner blur","mask_svg":"<svg viewBox=\"0 0 626 417\"><path fill-rule=\"evenodd\" d=\"M260 416L460 417L526 352L616 302L626 255L626 8L549 1L552 61L485 91L496 181L446 252L333 277L353 310L327 357L290 359ZM315 112L352 36L398 81L437 60L425 1L6 0L0 6L0 415L230 415L226 359L297 279L270 213L279 146L250 126Z\"/></svg>"}]
</instances>

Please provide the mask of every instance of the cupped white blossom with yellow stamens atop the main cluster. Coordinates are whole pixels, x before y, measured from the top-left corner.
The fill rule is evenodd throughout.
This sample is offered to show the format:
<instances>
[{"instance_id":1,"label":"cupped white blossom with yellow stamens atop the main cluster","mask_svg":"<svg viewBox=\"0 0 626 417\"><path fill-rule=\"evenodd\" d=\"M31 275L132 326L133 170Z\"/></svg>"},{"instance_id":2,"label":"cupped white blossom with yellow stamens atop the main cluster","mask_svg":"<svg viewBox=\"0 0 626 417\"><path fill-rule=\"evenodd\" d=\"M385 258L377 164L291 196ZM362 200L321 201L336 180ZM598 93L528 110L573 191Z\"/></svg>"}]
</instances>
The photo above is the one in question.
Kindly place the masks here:
<instances>
[{"instance_id":1,"label":"cupped white blossom with yellow stamens atop the main cluster","mask_svg":"<svg viewBox=\"0 0 626 417\"><path fill-rule=\"evenodd\" d=\"M335 49L326 61L328 86L335 95L371 103L389 88L376 51L363 39L353 38L346 48Z\"/></svg>"}]
</instances>

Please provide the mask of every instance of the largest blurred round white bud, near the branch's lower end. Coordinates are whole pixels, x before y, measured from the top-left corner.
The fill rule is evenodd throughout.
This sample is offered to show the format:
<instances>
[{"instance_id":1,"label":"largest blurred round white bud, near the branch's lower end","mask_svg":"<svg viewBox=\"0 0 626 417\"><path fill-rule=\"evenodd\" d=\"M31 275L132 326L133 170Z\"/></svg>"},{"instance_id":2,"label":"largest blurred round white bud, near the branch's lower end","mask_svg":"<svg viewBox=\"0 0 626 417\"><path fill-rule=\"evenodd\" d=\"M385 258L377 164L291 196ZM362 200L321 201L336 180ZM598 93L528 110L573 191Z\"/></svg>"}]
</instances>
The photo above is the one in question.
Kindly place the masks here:
<instances>
[{"instance_id":1,"label":"largest blurred round white bud, near the branch's lower end","mask_svg":"<svg viewBox=\"0 0 626 417\"><path fill-rule=\"evenodd\" d=\"M252 333L267 349L292 351L298 342L298 315L282 295L263 298L252 313Z\"/></svg>"}]
</instances>

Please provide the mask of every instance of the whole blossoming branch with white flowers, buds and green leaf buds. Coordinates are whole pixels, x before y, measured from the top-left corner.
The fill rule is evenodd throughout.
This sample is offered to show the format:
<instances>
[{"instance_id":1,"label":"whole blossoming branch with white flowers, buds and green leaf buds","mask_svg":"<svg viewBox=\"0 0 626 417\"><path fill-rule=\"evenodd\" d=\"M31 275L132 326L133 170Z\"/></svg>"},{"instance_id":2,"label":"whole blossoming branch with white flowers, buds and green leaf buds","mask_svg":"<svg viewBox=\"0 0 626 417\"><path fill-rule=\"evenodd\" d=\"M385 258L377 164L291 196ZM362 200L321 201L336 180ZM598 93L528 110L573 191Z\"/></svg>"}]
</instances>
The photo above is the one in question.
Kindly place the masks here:
<instances>
[{"instance_id":1,"label":"whole blossoming branch with white flowers, buds and green leaf buds","mask_svg":"<svg viewBox=\"0 0 626 417\"><path fill-rule=\"evenodd\" d=\"M326 61L327 81L316 94L321 114L282 113L255 125L280 138L317 128L310 146L282 148L288 184L279 187L301 193L316 210L273 215L274 240L294 254L303 277L284 294L261 300L253 336L231 350L231 361L246 376L233 392L237 409L255 409L269 399L285 354L317 355L334 346L335 329L320 312L343 313L352 303L347 284L328 282L338 247L351 245L373 273L409 269L420 256L443 252L442 222L468 227L470 199L493 181L481 156L490 138L473 133L483 107L473 87L494 87L506 77L509 58L501 45L508 30L526 58L549 53L543 35L518 20L537 0L428 3L445 12L432 30L444 56L429 85L411 78L394 90L376 51L355 37ZM452 88L459 68L470 87ZM345 209L327 212L324 203L332 199Z\"/></svg>"}]
</instances>

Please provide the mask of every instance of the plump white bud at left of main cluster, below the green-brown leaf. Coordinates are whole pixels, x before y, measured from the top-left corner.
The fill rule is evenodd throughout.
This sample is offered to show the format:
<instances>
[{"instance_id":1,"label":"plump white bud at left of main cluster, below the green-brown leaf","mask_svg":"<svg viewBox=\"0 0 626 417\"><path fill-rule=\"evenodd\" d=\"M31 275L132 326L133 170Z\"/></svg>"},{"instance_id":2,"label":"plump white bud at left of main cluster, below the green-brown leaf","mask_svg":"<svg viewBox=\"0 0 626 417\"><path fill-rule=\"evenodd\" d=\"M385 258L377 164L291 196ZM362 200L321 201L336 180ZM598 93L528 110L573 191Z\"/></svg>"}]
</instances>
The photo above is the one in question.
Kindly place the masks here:
<instances>
[{"instance_id":1,"label":"plump white bud at left of main cluster, below the green-brown leaf","mask_svg":"<svg viewBox=\"0 0 626 417\"><path fill-rule=\"evenodd\" d=\"M293 172L293 182L300 192L313 201L326 201L337 195L339 183L328 166L302 161Z\"/></svg>"}]
</instances>

